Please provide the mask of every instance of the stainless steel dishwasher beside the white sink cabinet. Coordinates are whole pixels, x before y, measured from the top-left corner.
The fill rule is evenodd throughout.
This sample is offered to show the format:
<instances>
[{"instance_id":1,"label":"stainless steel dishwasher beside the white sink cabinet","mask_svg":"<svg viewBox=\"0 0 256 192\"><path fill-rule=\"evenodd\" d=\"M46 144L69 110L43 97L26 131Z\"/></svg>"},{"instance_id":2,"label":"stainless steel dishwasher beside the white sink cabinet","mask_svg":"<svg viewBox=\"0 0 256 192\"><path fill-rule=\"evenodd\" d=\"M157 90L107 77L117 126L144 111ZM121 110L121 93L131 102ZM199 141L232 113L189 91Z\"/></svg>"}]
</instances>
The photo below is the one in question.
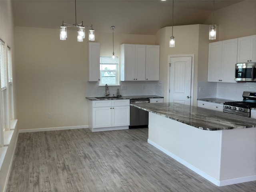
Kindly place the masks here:
<instances>
[{"instance_id":1,"label":"stainless steel dishwasher beside the white sink cabinet","mask_svg":"<svg viewBox=\"0 0 256 192\"><path fill-rule=\"evenodd\" d=\"M130 104L149 103L149 99L130 99ZM142 109L130 106L130 126L131 128L147 128L148 112Z\"/></svg>"}]
</instances>

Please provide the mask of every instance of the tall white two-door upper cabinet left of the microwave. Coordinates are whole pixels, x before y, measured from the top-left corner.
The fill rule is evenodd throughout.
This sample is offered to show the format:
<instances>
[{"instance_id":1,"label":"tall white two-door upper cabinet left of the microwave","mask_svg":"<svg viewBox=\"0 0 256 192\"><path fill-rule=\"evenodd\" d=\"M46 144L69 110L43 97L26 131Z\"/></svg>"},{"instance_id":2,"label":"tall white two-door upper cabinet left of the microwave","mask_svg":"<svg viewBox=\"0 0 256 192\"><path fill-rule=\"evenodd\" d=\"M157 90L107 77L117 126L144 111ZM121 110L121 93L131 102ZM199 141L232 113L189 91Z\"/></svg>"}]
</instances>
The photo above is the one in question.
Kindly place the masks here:
<instances>
[{"instance_id":1,"label":"tall white two-door upper cabinet left of the microwave","mask_svg":"<svg viewBox=\"0 0 256 192\"><path fill-rule=\"evenodd\" d=\"M208 81L235 83L237 39L209 43Z\"/></svg>"}]
</instances>

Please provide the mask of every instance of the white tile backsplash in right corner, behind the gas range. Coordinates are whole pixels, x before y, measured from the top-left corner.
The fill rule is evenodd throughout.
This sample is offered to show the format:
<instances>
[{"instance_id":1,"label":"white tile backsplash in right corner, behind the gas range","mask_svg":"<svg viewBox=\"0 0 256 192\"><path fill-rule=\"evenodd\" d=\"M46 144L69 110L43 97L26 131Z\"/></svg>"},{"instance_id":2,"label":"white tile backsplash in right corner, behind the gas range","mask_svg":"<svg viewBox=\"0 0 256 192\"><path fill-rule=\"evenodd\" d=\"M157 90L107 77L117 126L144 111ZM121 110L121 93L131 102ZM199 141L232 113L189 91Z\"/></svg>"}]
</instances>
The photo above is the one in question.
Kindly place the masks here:
<instances>
[{"instance_id":1,"label":"white tile backsplash in right corner, behind the gas range","mask_svg":"<svg viewBox=\"0 0 256 192\"><path fill-rule=\"evenodd\" d=\"M201 91L200 91L201 88ZM198 98L222 98L230 100L243 100L244 91L256 92L256 82L242 83L214 83L198 82Z\"/></svg>"}]
</instances>

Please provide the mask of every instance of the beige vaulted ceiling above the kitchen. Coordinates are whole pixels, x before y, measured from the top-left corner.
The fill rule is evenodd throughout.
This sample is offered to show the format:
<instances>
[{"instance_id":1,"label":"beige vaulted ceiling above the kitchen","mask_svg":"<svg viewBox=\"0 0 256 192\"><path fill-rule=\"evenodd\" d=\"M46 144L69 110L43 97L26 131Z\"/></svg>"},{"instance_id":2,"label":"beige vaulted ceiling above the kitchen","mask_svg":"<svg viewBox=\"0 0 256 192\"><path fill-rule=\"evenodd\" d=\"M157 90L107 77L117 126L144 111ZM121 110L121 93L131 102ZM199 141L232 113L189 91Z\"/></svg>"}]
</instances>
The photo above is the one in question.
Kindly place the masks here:
<instances>
[{"instance_id":1,"label":"beige vaulted ceiling above the kitchen","mask_svg":"<svg viewBox=\"0 0 256 192\"><path fill-rule=\"evenodd\" d=\"M215 10L242 0L215 0ZM75 0L12 0L14 25L60 28L62 20L74 24ZM213 0L174 0L174 26L206 24ZM77 24L95 31L151 34L172 26L172 0L76 0ZM210 23L207 23L210 24Z\"/></svg>"}]
</instances>

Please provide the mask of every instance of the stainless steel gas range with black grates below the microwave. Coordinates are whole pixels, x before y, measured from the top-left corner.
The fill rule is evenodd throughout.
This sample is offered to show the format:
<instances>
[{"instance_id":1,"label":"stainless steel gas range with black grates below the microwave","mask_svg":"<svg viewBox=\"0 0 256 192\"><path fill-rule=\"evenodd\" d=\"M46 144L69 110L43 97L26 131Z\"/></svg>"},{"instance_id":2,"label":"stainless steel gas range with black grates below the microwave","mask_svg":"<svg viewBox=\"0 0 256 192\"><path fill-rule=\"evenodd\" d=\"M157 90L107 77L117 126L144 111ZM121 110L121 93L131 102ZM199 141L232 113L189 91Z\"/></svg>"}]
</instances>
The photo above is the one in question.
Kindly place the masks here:
<instances>
[{"instance_id":1,"label":"stainless steel gas range with black grates below the microwave","mask_svg":"<svg viewBox=\"0 0 256 192\"><path fill-rule=\"evenodd\" d=\"M251 108L256 108L256 92L243 92L243 101L224 102L223 112L251 116Z\"/></svg>"}]
</instances>

